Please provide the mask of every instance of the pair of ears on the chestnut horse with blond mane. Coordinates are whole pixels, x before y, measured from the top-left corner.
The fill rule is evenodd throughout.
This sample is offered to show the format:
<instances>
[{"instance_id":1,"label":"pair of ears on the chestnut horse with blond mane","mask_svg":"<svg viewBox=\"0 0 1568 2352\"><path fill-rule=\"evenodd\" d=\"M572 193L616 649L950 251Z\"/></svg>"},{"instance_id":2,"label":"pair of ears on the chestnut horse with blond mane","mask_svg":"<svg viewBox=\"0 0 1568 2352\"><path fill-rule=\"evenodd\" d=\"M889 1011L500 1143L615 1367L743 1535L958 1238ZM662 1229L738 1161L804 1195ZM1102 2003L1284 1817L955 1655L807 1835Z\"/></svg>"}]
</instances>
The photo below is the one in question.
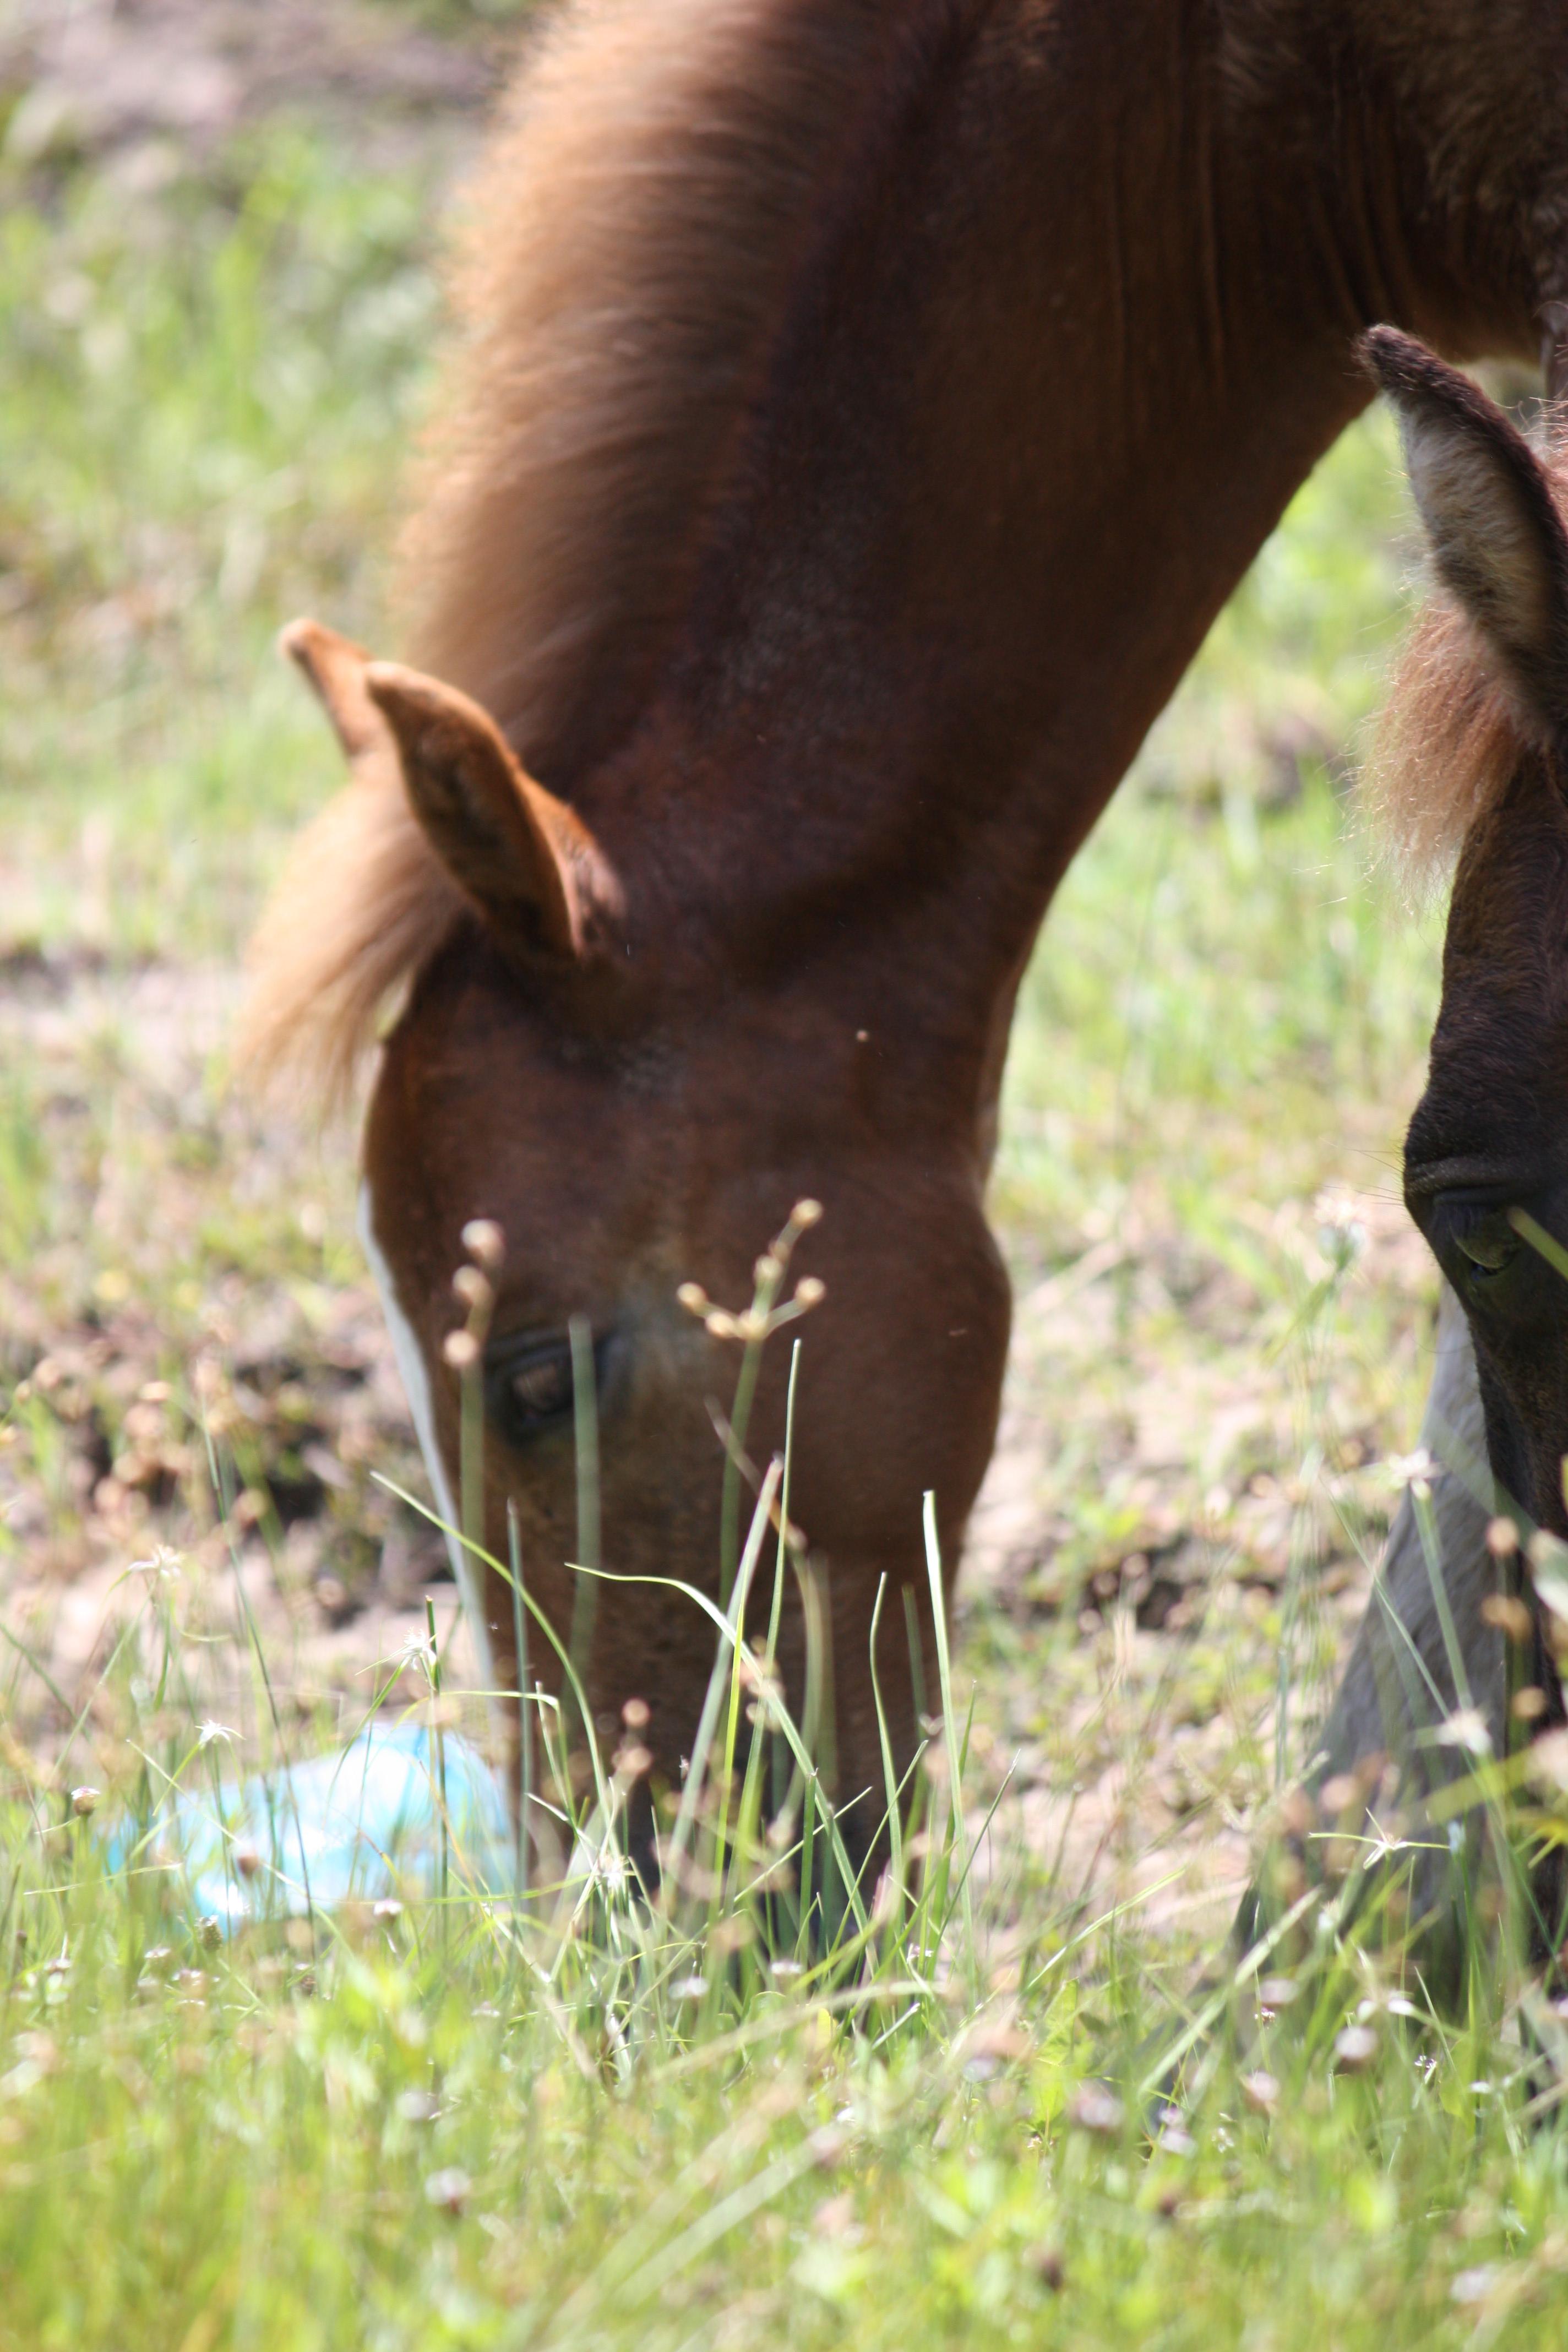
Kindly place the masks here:
<instances>
[{"instance_id":1,"label":"pair of ears on the chestnut horse with blond mane","mask_svg":"<svg viewBox=\"0 0 1568 2352\"><path fill-rule=\"evenodd\" d=\"M621 913L621 889L588 826L524 774L489 713L435 677L371 661L317 621L294 621L282 644L355 774L386 764L402 776L425 840L480 913L583 957L597 924Z\"/></svg>"}]
</instances>

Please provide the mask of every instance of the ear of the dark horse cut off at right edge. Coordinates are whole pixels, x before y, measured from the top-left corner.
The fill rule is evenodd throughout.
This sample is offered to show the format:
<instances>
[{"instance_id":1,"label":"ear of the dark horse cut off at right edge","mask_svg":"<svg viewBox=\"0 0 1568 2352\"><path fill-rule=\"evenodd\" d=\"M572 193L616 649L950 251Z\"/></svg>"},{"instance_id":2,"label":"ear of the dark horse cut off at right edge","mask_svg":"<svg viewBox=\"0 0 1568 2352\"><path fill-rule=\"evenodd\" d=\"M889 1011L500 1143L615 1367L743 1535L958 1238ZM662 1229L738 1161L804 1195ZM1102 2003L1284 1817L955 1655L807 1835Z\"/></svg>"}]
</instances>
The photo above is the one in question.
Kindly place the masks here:
<instances>
[{"instance_id":1,"label":"ear of the dark horse cut off at right edge","mask_svg":"<svg viewBox=\"0 0 1568 2352\"><path fill-rule=\"evenodd\" d=\"M1547 473L1469 376L1394 327L1361 341L1399 414L1439 579L1547 734L1568 734L1568 532Z\"/></svg>"}]
</instances>

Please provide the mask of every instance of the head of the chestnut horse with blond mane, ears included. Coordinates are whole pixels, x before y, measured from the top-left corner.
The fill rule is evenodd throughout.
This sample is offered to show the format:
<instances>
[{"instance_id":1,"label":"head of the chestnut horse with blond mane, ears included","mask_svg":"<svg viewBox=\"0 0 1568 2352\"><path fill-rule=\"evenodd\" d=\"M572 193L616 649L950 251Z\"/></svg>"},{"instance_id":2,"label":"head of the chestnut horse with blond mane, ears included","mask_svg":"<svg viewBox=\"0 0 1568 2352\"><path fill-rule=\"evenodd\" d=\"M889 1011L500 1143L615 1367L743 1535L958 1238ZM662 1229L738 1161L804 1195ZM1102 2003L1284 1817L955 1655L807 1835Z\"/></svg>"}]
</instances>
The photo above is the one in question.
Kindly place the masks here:
<instances>
[{"instance_id":1,"label":"head of the chestnut horse with blond mane, ears included","mask_svg":"<svg viewBox=\"0 0 1568 2352\"><path fill-rule=\"evenodd\" d=\"M731 1503L726 1526L724 1444L759 1463L783 1449L790 1338L776 1327L811 1308L790 1543L827 1604L839 1792L879 1790L877 1590L886 1576L877 1677L907 1759L926 1668L933 1686L922 1491L936 1489L957 1555L1006 1355L1009 1291L973 1134L933 1124L910 1150L907 1134L882 1129L865 1047L820 985L788 971L719 981L691 938L649 936L656 884L639 896L468 696L317 623L294 623L284 644L348 755L350 802L395 795L454 887L447 936L383 1037L362 1162L362 1232L442 1517L463 1515L468 1395L482 1423L470 1534L505 1562L515 1522L527 1588L557 1639L592 1628L583 1665L599 1729L644 1700L639 1736L677 1780L712 1625L670 1583L726 1597L752 1505L736 1515ZM284 887L282 920L287 906ZM766 1345L764 1329L776 1334ZM748 1343L750 1428L726 1432ZM590 1501L583 1381L597 1435ZM773 1552L769 1536L762 1623ZM632 1583L599 1588L583 1609L585 1569ZM489 1630L494 1686L512 1689L505 1581L468 1573L463 1555L458 1571ZM785 1583L778 1665L799 1705L804 1613ZM898 1588L917 1597L917 1658ZM538 1637L534 1675L559 1689Z\"/></svg>"}]
</instances>

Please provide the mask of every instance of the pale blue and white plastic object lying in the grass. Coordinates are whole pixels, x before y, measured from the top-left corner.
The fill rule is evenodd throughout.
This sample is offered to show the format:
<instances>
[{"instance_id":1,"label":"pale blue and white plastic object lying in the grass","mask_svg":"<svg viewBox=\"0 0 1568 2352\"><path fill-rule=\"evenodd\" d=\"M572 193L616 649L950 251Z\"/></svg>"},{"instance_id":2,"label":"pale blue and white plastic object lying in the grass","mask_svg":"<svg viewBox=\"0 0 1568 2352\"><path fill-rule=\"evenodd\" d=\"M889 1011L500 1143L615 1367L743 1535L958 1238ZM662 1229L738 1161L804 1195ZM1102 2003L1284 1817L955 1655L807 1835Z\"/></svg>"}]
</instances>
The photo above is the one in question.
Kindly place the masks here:
<instances>
[{"instance_id":1,"label":"pale blue and white plastic object lying in the grass","mask_svg":"<svg viewBox=\"0 0 1568 2352\"><path fill-rule=\"evenodd\" d=\"M480 1750L447 1731L437 1757L423 1724L376 1722L308 1764L223 1780L216 1795L181 1792L150 1837L120 1832L108 1863L136 1867L150 1851L176 1860L195 1910L235 1933L310 1905L435 1893L442 1844L451 1886L512 1891L512 1823Z\"/></svg>"}]
</instances>

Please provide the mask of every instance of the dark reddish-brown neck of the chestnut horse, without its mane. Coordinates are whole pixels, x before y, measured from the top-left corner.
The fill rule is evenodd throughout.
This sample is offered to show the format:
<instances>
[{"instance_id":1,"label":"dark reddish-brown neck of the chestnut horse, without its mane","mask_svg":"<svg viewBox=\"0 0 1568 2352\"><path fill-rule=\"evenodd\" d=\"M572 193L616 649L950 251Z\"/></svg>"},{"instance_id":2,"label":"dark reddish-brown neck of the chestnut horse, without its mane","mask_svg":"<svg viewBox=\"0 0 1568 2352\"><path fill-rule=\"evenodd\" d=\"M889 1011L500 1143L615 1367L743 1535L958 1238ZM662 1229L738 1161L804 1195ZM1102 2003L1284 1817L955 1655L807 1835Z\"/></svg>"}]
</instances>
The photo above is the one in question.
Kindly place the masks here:
<instances>
[{"instance_id":1,"label":"dark reddish-brown neck of the chestnut horse, without its mane","mask_svg":"<svg viewBox=\"0 0 1568 2352\"><path fill-rule=\"evenodd\" d=\"M1018 0L954 35L778 336L644 720L583 779L635 953L870 957L924 1030L936 969L980 1098L1056 882L1366 400L1354 334L1528 329L1507 270L1472 299L1408 228L1331 64L1281 172L1279 99L1208 21Z\"/></svg>"}]
</instances>

